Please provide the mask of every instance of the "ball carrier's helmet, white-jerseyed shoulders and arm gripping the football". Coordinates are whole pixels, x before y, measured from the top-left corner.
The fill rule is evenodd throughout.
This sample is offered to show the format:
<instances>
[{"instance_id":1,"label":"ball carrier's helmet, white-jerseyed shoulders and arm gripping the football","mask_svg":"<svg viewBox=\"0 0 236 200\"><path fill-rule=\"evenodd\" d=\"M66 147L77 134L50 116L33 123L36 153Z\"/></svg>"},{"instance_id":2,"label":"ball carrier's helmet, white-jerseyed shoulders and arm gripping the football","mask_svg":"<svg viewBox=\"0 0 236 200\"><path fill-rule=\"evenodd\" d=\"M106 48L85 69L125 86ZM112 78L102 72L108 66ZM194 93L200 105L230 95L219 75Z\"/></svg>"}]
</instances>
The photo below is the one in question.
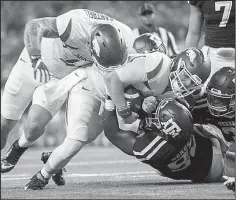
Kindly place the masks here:
<instances>
[{"instance_id":1,"label":"ball carrier's helmet, white-jerseyed shoulders and arm gripping the football","mask_svg":"<svg viewBox=\"0 0 236 200\"><path fill-rule=\"evenodd\" d=\"M133 85L145 97L185 97L203 86L210 70L209 58L192 48L178 54L173 61L160 52L139 54L125 68L108 73L104 80L118 114L129 124L137 119L137 114L127 106L126 85Z\"/></svg>"}]
</instances>

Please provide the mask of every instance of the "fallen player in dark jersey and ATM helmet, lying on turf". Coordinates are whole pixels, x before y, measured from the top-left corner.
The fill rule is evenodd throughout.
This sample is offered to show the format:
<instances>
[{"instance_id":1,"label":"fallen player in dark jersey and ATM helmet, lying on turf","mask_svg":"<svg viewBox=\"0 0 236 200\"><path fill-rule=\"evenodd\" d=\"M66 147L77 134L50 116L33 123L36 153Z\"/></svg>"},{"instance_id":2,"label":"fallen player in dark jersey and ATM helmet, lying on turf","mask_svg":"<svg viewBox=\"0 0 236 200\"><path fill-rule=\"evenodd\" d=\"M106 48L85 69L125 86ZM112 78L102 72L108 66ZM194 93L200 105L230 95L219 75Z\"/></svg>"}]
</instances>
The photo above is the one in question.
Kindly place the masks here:
<instances>
[{"instance_id":1,"label":"fallen player in dark jersey and ATM helmet, lying on turf","mask_svg":"<svg viewBox=\"0 0 236 200\"><path fill-rule=\"evenodd\" d=\"M141 119L139 131L134 133L119 129L112 104L105 104L104 132L124 153L168 178L193 182L222 180L224 159L220 143L194 132L192 115L185 106L176 100L162 100L154 112Z\"/></svg>"}]
</instances>

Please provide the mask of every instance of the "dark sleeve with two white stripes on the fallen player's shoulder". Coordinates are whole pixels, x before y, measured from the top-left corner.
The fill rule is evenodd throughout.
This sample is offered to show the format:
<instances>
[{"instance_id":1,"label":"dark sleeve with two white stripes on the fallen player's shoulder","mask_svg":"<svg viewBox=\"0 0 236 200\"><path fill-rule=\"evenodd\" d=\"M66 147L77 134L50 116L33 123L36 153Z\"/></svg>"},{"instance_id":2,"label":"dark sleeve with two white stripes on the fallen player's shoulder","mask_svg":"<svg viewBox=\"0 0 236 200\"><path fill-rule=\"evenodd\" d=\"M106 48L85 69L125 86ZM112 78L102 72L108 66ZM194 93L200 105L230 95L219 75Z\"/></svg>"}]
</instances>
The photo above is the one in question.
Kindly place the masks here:
<instances>
[{"instance_id":1,"label":"dark sleeve with two white stripes on the fallen player's shoulder","mask_svg":"<svg viewBox=\"0 0 236 200\"><path fill-rule=\"evenodd\" d=\"M172 145L155 133L147 133L137 138L133 153L141 162L165 160L173 151Z\"/></svg>"}]
</instances>

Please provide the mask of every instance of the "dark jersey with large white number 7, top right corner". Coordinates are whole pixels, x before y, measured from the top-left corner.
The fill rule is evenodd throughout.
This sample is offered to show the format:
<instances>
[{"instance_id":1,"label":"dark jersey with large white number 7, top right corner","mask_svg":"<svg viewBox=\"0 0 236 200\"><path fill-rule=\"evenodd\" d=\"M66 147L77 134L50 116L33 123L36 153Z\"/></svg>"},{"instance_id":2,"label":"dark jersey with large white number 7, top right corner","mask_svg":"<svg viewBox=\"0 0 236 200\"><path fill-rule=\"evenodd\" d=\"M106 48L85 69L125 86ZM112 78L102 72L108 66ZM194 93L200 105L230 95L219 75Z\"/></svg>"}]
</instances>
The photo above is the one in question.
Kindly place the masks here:
<instances>
[{"instance_id":1,"label":"dark jersey with large white number 7, top right corner","mask_svg":"<svg viewBox=\"0 0 236 200\"><path fill-rule=\"evenodd\" d=\"M235 48L235 1L189 1L201 9L205 21L205 45Z\"/></svg>"}]
</instances>

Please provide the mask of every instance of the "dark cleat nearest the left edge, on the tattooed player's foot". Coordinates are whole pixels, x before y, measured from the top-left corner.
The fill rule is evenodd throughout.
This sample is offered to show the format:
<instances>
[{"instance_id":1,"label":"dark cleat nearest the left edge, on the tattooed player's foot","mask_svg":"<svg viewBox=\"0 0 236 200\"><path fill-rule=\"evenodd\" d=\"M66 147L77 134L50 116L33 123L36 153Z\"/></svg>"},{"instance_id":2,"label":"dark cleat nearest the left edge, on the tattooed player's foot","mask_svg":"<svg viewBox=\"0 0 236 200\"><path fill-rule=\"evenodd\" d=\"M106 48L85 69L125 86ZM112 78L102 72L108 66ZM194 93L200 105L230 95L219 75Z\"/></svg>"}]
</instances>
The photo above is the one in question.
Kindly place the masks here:
<instances>
[{"instance_id":1,"label":"dark cleat nearest the left edge, on the tattooed player's foot","mask_svg":"<svg viewBox=\"0 0 236 200\"><path fill-rule=\"evenodd\" d=\"M18 140L16 140L8 149L6 155L1 158L1 173L11 171L26 149L28 149L28 147L20 147Z\"/></svg>"}]
</instances>

